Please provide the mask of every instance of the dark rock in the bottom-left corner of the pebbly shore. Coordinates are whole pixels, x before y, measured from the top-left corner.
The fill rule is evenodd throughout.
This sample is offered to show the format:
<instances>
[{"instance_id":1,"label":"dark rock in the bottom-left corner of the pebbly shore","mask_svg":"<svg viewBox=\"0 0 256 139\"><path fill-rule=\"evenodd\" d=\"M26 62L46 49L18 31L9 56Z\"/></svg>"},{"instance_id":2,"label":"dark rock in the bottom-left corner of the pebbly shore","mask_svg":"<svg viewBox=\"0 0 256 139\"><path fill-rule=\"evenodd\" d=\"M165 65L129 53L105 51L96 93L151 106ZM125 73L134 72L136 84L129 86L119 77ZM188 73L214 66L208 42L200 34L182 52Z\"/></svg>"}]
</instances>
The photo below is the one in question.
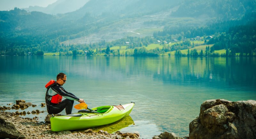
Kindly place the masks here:
<instances>
[{"instance_id":1,"label":"dark rock in the bottom-left corner of the pebbly shore","mask_svg":"<svg viewBox=\"0 0 256 139\"><path fill-rule=\"evenodd\" d=\"M1 138L25 138L24 135L15 128L14 124L0 118L0 137Z\"/></svg>"}]
</instances>

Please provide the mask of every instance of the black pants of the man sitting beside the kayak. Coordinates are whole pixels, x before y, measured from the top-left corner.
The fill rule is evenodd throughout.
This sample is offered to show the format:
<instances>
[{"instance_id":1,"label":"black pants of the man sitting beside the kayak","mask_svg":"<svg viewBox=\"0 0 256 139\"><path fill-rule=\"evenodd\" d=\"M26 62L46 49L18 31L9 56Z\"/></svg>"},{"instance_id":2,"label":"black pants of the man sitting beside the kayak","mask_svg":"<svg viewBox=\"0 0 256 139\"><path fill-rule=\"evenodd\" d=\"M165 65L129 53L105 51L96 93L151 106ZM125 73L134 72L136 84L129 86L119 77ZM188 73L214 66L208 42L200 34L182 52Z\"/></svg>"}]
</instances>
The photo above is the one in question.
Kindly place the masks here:
<instances>
[{"instance_id":1,"label":"black pants of the man sitting beside the kayak","mask_svg":"<svg viewBox=\"0 0 256 139\"><path fill-rule=\"evenodd\" d=\"M65 99L56 105L52 103L50 105L47 104L47 112L49 114L58 114L65 108L66 114L71 114L73 104L74 104L74 100L69 100L69 99Z\"/></svg>"}]
</instances>

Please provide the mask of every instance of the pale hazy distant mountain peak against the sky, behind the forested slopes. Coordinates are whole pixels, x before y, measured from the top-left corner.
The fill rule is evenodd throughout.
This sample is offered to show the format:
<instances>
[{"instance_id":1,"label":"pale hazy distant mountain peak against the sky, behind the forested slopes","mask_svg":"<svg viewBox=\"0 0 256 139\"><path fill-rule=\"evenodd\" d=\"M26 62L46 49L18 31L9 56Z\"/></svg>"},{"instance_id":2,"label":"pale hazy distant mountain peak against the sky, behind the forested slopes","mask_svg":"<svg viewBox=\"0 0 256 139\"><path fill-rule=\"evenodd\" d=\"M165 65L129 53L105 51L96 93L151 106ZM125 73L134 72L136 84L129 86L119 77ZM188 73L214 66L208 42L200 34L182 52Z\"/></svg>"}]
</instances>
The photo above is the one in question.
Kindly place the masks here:
<instances>
[{"instance_id":1,"label":"pale hazy distant mountain peak against the sky, behind the forested slopes","mask_svg":"<svg viewBox=\"0 0 256 139\"><path fill-rule=\"evenodd\" d=\"M23 8L26 11L40 11L47 14L61 14L76 11L84 6L90 0L57 0L55 3L48 5L47 7L29 6Z\"/></svg>"}]
</instances>

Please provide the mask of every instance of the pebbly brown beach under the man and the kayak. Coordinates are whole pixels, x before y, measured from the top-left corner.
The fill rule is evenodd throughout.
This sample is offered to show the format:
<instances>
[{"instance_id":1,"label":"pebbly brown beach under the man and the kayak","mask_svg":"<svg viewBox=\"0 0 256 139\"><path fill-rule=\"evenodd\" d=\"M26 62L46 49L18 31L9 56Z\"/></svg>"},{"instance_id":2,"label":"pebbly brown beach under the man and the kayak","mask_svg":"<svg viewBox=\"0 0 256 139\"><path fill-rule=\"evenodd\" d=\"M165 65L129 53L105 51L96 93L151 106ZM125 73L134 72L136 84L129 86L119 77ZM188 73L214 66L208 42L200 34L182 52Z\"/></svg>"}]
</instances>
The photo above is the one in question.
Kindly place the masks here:
<instances>
[{"instance_id":1,"label":"pebbly brown beach under the man and the kayak","mask_svg":"<svg viewBox=\"0 0 256 139\"><path fill-rule=\"evenodd\" d=\"M11 112L0 111L0 118L5 122L14 124L20 136L18 138L107 138L121 139L129 136L130 138L139 138L138 133L121 133L119 131L109 134L106 131L92 131L92 129L74 130L74 131L51 131L51 124L39 122L34 118L23 118L19 115L12 115ZM10 127L5 127L10 128ZM5 138L5 137L4 137Z\"/></svg>"}]
</instances>

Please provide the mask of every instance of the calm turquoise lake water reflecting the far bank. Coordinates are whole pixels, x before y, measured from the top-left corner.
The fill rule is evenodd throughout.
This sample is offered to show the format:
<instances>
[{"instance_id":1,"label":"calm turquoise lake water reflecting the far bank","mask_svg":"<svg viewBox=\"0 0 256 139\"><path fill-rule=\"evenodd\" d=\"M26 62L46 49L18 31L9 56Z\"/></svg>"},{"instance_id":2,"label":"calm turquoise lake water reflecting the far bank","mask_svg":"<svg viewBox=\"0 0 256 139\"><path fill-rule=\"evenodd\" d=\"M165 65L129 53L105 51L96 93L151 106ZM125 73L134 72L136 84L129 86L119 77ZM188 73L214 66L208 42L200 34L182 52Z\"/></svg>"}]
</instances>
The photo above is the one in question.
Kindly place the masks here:
<instances>
[{"instance_id":1,"label":"calm turquoise lake water reflecting the far bank","mask_svg":"<svg viewBox=\"0 0 256 139\"><path fill-rule=\"evenodd\" d=\"M63 72L63 87L89 108L135 102L130 117L100 128L138 131L141 138L163 131L188 136L189 123L207 99L256 100L256 59L248 57L0 56L0 64L0 106L23 99L38 105L26 112L46 111L44 85ZM44 121L46 115L22 117Z\"/></svg>"}]
</instances>

